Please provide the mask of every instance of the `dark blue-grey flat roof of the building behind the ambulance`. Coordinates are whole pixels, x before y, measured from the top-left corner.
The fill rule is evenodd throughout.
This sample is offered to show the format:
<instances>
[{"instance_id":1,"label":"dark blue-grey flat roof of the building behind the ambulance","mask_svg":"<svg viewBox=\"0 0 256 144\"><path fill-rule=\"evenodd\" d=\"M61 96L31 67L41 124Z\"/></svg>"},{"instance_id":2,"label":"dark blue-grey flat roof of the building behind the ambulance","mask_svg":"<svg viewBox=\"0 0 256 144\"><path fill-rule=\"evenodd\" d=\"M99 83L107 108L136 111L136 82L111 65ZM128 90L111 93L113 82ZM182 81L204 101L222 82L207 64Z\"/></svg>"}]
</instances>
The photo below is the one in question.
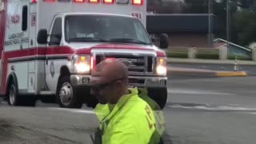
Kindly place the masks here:
<instances>
[{"instance_id":1,"label":"dark blue-grey flat roof of the building behind the ambulance","mask_svg":"<svg viewBox=\"0 0 256 144\"><path fill-rule=\"evenodd\" d=\"M146 29L149 33L208 32L208 14L148 14ZM213 15L213 30L216 31L217 18Z\"/></svg>"}]
</instances>

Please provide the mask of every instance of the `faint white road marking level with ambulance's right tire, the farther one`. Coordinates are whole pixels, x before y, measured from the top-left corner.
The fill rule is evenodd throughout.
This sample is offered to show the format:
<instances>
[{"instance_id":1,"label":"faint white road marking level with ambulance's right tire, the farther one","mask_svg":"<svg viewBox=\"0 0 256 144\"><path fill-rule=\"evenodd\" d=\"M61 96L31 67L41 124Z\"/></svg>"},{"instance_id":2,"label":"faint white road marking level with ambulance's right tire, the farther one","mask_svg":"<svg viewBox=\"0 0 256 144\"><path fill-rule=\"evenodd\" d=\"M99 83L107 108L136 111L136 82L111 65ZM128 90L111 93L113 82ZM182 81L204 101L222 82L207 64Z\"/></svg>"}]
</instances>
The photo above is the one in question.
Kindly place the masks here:
<instances>
[{"instance_id":1,"label":"faint white road marking level with ambulance's right tire, the farther one","mask_svg":"<svg viewBox=\"0 0 256 144\"><path fill-rule=\"evenodd\" d=\"M209 90L186 90L186 89L168 89L170 94L212 94L212 95L231 95L229 93L218 93Z\"/></svg>"}]
</instances>

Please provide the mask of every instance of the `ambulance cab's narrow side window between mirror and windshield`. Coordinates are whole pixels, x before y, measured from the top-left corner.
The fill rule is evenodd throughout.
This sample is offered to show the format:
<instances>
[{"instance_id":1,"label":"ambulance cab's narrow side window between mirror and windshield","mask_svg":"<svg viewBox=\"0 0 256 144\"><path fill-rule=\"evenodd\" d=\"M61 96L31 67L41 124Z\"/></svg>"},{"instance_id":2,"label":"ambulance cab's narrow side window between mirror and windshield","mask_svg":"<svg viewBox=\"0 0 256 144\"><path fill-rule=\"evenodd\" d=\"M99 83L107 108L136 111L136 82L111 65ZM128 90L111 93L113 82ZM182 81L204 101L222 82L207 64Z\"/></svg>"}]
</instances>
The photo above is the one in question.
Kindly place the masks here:
<instances>
[{"instance_id":1,"label":"ambulance cab's narrow side window between mirror and windshield","mask_svg":"<svg viewBox=\"0 0 256 144\"><path fill-rule=\"evenodd\" d=\"M56 18L50 34L49 45L59 45L62 39L62 18Z\"/></svg>"}]
</instances>

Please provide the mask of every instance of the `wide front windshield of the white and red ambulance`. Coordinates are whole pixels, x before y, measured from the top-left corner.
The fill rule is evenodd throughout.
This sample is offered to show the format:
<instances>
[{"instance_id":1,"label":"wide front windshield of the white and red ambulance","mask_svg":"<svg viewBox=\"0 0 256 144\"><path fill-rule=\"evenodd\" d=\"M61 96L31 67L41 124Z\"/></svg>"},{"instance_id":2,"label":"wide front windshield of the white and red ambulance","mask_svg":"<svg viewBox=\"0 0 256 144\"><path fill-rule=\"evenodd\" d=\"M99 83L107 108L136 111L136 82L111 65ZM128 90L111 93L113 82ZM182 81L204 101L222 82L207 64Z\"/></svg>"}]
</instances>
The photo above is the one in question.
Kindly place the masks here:
<instances>
[{"instance_id":1,"label":"wide front windshield of the white and red ambulance","mask_svg":"<svg viewBox=\"0 0 256 144\"><path fill-rule=\"evenodd\" d=\"M66 16L65 39L66 42L152 44L138 19L110 15Z\"/></svg>"}]
</instances>

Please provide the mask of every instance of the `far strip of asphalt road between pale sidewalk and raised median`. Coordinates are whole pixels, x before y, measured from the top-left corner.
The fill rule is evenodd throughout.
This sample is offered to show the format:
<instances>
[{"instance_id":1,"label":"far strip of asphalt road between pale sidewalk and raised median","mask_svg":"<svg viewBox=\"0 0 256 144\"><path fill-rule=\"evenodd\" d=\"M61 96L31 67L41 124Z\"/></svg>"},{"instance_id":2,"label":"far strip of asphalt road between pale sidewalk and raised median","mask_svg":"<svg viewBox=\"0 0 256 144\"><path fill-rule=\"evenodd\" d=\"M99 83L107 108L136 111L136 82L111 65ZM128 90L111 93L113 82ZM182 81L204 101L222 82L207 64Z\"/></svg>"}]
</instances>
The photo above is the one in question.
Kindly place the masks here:
<instances>
[{"instance_id":1,"label":"far strip of asphalt road between pale sidewalk and raised median","mask_svg":"<svg viewBox=\"0 0 256 144\"><path fill-rule=\"evenodd\" d=\"M194 69L203 69L203 70L224 70L224 71L234 71L234 65L230 64L209 64L209 63L178 63L174 62L169 64L172 67L181 67L181 68L194 68ZM238 71L246 71L250 75L256 75L256 66L249 65L237 65Z\"/></svg>"}]
</instances>

